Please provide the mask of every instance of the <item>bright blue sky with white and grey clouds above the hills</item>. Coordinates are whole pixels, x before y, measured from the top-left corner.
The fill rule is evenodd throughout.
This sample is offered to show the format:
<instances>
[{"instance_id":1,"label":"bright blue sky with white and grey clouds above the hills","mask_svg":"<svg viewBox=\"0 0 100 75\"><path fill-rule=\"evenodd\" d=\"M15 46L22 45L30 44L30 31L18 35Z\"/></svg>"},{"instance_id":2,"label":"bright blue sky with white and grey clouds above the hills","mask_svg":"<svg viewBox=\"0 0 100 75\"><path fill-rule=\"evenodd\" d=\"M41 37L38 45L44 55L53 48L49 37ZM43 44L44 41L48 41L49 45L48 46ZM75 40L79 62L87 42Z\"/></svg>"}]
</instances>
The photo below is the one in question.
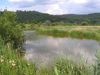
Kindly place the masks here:
<instances>
[{"instance_id":1,"label":"bright blue sky with white and grey clouds above the hills","mask_svg":"<svg viewBox=\"0 0 100 75\"><path fill-rule=\"evenodd\" d=\"M52 15L100 12L100 0L0 0L0 10L39 11Z\"/></svg>"}]
</instances>

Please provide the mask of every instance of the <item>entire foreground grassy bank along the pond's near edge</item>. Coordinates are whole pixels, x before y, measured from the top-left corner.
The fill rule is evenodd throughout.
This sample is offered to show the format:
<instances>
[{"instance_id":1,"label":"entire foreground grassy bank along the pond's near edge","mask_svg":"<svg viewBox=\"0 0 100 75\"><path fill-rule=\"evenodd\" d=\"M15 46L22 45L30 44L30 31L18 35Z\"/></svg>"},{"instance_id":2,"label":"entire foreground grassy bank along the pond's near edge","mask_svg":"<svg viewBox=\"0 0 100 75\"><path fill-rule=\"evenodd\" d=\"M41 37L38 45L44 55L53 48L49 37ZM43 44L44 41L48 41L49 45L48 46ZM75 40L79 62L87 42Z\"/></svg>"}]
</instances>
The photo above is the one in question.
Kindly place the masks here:
<instances>
[{"instance_id":1,"label":"entire foreground grassy bank along the pond's near edge","mask_svg":"<svg viewBox=\"0 0 100 75\"><path fill-rule=\"evenodd\" d=\"M100 72L100 52L97 52L97 63L89 65L82 60L77 63L71 59L57 59L49 66L36 66L20 56L11 44L0 41L0 75L97 75Z\"/></svg>"}]
</instances>

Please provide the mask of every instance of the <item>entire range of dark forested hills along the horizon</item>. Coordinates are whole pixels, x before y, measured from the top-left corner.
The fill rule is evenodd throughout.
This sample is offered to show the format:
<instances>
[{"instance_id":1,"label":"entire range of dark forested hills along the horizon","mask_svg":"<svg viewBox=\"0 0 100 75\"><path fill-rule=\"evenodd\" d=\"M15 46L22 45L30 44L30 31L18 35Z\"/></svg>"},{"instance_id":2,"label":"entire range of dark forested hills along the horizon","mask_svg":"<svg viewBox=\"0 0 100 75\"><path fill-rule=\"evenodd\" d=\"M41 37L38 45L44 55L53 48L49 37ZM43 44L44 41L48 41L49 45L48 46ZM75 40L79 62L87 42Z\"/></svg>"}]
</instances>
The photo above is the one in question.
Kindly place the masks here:
<instances>
[{"instance_id":1,"label":"entire range of dark forested hills along the horizon","mask_svg":"<svg viewBox=\"0 0 100 75\"><path fill-rule=\"evenodd\" d=\"M50 20L51 22L77 23L88 22L89 24L100 24L100 13L92 14L65 14L65 15L50 15L37 11L16 11L17 21L21 23L39 23Z\"/></svg>"}]
</instances>

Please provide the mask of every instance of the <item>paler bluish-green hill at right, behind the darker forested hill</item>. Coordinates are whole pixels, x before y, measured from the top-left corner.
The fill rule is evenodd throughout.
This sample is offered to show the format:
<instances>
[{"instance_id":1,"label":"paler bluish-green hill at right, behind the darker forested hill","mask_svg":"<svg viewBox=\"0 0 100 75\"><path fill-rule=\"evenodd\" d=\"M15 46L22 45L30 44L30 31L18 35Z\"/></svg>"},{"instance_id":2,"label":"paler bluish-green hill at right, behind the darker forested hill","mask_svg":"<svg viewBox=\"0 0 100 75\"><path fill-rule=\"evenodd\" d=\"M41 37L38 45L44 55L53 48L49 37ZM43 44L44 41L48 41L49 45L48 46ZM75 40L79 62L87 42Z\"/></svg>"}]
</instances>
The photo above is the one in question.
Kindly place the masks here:
<instances>
[{"instance_id":1,"label":"paler bluish-green hill at right, behind the darker forested hill","mask_svg":"<svg viewBox=\"0 0 100 75\"><path fill-rule=\"evenodd\" d=\"M82 23L83 21L89 22L90 24L100 24L100 13L92 13L92 14L68 14L62 15L66 19L69 19L71 22Z\"/></svg>"}]
</instances>

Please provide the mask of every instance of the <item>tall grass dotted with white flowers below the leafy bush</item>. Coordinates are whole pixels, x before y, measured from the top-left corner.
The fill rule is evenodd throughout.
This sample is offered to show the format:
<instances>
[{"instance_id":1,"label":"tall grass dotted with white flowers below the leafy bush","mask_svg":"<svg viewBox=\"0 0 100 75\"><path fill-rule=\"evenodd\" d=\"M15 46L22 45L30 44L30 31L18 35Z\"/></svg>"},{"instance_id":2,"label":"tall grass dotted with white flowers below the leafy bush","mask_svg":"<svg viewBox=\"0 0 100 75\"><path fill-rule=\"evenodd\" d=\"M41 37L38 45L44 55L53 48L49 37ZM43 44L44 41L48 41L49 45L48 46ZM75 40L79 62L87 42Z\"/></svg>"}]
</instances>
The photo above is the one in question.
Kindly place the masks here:
<instances>
[{"instance_id":1,"label":"tall grass dotted with white flowers below the leafy bush","mask_svg":"<svg viewBox=\"0 0 100 75\"><path fill-rule=\"evenodd\" d=\"M35 63L28 63L11 44L0 41L0 75L36 75L36 71Z\"/></svg>"}]
</instances>

